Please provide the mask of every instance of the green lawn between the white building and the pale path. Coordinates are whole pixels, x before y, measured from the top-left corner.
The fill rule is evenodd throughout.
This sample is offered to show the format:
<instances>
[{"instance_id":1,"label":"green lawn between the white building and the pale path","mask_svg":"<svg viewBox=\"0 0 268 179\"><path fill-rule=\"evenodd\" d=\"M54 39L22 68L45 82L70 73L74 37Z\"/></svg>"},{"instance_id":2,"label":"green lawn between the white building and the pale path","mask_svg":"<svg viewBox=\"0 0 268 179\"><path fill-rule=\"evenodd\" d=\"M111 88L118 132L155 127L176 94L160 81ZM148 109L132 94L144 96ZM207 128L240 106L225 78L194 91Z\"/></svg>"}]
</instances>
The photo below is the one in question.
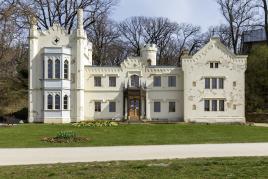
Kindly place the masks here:
<instances>
[{"instance_id":1,"label":"green lawn between the white building and the pale path","mask_svg":"<svg viewBox=\"0 0 268 179\"><path fill-rule=\"evenodd\" d=\"M82 143L51 144L41 141L59 131L75 131L90 140ZM244 125L133 124L115 127L23 124L0 127L0 147L63 147L148 144L195 144L268 142L268 128Z\"/></svg>"}]
</instances>

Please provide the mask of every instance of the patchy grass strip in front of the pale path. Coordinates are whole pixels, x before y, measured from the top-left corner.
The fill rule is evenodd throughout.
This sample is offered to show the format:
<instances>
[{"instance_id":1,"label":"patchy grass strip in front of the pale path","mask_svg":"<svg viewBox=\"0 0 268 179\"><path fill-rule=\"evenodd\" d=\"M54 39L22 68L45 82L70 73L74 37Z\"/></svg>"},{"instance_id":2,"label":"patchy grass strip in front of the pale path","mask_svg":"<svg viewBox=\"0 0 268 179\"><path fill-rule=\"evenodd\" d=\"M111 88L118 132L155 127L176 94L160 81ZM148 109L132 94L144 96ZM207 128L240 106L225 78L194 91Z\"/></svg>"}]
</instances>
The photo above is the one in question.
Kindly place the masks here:
<instances>
[{"instance_id":1,"label":"patchy grass strip in front of the pale path","mask_svg":"<svg viewBox=\"0 0 268 179\"><path fill-rule=\"evenodd\" d=\"M268 158L211 158L0 167L0 178L267 178Z\"/></svg>"}]
</instances>

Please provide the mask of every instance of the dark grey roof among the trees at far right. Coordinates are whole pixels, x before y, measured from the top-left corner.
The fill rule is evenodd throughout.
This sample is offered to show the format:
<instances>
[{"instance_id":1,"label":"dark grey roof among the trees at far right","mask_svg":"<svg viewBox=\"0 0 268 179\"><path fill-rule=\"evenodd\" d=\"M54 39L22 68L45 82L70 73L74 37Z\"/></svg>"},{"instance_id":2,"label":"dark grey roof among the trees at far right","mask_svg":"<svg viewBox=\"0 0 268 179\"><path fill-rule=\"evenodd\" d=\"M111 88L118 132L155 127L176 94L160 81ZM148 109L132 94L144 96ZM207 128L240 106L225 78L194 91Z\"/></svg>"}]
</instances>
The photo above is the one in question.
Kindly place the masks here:
<instances>
[{"instance_id":1,"label":"dark grey roof among the trees at far right","mask_svg":"<svg viewBox=\"0 0 268 179\"><path fill-rule=\"evenodd\" d=\"M251 31L245 31L243 33L243 41L247 42L262 42L266 40L265 30L257 29Z\"/></svg>"}]
</instances>

